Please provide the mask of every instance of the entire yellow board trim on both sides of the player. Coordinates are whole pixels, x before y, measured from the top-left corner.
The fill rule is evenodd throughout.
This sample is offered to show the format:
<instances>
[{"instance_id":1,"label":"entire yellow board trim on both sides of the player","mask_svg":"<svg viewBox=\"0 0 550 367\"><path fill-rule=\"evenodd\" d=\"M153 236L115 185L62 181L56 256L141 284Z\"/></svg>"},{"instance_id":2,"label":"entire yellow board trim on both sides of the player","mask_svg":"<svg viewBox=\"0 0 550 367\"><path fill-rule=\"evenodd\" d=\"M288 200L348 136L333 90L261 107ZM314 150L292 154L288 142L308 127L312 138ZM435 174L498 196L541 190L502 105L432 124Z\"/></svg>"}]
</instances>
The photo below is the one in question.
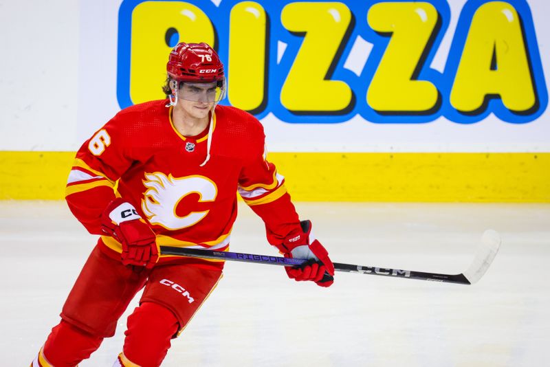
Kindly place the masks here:
<instances>
[{"instance_id":1,"label":"entire yellow board trim on both sides of the player","mask_svg":"<svg viewBox=\"0 0 550 367\"><path fill-rule=\"evenodd\" d=\"M74 152L0 151L0 199L59 200ZM270 153L294 201L550 203L550 153Z\"/></svg>"}]
</instances>

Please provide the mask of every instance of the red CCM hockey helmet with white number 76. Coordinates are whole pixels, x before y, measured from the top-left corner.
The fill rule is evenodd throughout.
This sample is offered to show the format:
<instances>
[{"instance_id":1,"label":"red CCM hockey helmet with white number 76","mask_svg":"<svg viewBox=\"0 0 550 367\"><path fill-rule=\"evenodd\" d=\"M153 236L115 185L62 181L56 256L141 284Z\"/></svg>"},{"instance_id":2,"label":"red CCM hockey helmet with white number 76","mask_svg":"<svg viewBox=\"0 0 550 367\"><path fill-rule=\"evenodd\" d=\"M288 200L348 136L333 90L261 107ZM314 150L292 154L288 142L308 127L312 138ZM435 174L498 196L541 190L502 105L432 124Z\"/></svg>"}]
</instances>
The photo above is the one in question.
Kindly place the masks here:
<instances>
[{"instance_id":1,"label":"red CCM hockey helmet with white number 76","mask_svg":"<svg viewBox=\"0 0 550 367\"><path fill-rule=\"evenodd\" d=\"M223 82L223 64L206 43L178 43L166 64L168 76L180 82ZM221 86L221 85L220 85Z\"/></svg>"}]
</instances>

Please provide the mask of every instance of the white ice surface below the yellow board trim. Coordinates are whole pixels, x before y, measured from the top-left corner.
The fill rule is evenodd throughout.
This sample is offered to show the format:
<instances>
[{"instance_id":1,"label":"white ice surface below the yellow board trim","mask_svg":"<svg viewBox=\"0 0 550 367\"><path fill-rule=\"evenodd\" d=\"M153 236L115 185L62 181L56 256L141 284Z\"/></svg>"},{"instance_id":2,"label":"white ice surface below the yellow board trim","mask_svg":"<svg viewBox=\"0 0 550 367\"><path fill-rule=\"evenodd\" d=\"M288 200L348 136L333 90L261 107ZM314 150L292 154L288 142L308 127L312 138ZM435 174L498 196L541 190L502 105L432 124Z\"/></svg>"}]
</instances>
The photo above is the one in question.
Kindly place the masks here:
<instances>
[{"instance_id":1,"label":"white ice surface below the yellow board trim","mask_svg":"<svg viewBox=\"0 0 550 367\"><path fill-rule=\"evenodd\" d=\"M550 205L297 203L338 263L456 274L487 228L502 245L475 285L227 263L163 366L550 366ZM276 254L239 207L231 249ZM94 246L64 202L0 202L0 365L28 366ZM81 367L111 366L114 337Z\"/></svg>"}]
</instances>

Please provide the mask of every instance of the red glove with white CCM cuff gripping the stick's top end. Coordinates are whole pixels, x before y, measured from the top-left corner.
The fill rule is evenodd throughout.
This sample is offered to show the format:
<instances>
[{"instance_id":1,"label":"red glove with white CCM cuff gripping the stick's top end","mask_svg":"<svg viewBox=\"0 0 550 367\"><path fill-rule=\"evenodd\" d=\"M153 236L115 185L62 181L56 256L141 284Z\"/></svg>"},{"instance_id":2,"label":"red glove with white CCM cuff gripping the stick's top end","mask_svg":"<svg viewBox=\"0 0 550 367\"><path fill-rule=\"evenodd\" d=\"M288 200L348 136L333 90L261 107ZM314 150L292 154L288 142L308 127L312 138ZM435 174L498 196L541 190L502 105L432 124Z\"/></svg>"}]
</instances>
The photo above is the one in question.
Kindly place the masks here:
<instances>
[{"instance_id":1,"label":"red glove with white CCM cuff gripping the stick's top end","mask_svg":"<svg viewBox=\"0 0 550 367\"><path fill-rule=\"evenodd\" d=\"M124 265L151 269L159 260L159 247L155 232L141 218L131 203L117 198L103 211L101 230L122 244Z\"/></svg>"}]
</instances>

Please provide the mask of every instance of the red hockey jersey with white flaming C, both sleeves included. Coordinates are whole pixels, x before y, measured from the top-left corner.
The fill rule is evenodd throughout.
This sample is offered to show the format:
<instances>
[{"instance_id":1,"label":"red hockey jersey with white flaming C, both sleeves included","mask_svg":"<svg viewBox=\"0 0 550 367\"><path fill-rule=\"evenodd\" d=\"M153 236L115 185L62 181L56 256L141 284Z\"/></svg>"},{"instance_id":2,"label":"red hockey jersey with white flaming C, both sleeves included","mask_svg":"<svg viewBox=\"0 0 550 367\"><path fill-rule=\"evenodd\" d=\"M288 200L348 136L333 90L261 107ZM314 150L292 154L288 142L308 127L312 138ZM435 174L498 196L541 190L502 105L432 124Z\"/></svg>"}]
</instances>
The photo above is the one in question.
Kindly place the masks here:
<instances>
[{"instance_id":1,"label":"red hockey jersey with white flaming C, both sleeves included","mask_svg":"<svg viewBox=\"0 0 550 367\"><path fill-rule=\"evenodd\" d=\"M120 196L151 225L159 245L226 251L236 192L261 216L270 243L300 231L284 177L265 159L265 135L256 118L217 106L208 149L208 129L203 136L182 136L171 121L172 107L165 105L156 100L120 111L76 154L66 199L90 233L102 234L102 211ZM103 245L121 252L112 237L102 236Z\"/></svg>"}]
</instances>

